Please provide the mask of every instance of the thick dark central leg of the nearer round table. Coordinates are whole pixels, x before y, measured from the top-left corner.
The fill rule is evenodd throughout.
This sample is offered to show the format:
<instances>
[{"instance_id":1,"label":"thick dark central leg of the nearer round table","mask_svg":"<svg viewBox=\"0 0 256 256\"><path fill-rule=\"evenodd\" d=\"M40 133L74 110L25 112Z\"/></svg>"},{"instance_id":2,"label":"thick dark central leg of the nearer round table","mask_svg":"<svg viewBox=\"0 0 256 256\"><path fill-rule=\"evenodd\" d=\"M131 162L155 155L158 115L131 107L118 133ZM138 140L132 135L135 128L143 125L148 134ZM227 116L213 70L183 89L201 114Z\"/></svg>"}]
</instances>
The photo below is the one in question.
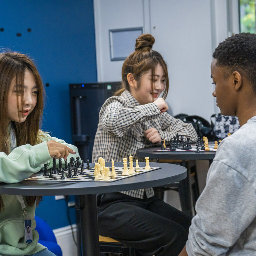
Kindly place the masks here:
<instances>
[{"instance_id":1,"label":"thick dark central leg of the nearer round table","mask_svg":"<svg viewBox=\"0 0 256 256\"><path fill-rule=\"evenodd\" d=\"M79 195L82 256L99 256L96 195Z\"/></svg>"}]
</instances>

